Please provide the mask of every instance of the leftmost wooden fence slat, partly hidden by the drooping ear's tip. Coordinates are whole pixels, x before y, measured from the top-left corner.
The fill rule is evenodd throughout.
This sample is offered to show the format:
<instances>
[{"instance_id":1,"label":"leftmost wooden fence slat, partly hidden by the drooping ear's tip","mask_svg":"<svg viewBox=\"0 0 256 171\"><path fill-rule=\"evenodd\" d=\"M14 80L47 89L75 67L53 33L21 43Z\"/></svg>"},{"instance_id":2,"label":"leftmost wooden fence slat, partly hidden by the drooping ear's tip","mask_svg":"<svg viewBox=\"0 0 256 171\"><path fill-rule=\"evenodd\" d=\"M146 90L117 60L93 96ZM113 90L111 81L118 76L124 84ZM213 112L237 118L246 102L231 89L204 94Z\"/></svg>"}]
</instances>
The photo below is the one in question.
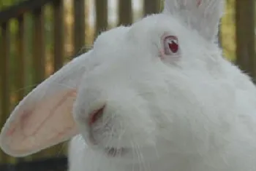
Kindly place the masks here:
<instances>
[{"instance_id":1,"label":"leftmost wooden fence slat, partly hidden by the drooping ear's tip","mask_svg":"<svg viewBox=\"0 0 256 171\"><path fill-rule=\"evenodd\" d=\"M1 73L1 126L10 114L10 28L8 23L1 24L2 40L0 41ZM7 155L1 152L1 162L7 162Z\"/></svg>"}]
</instances>

